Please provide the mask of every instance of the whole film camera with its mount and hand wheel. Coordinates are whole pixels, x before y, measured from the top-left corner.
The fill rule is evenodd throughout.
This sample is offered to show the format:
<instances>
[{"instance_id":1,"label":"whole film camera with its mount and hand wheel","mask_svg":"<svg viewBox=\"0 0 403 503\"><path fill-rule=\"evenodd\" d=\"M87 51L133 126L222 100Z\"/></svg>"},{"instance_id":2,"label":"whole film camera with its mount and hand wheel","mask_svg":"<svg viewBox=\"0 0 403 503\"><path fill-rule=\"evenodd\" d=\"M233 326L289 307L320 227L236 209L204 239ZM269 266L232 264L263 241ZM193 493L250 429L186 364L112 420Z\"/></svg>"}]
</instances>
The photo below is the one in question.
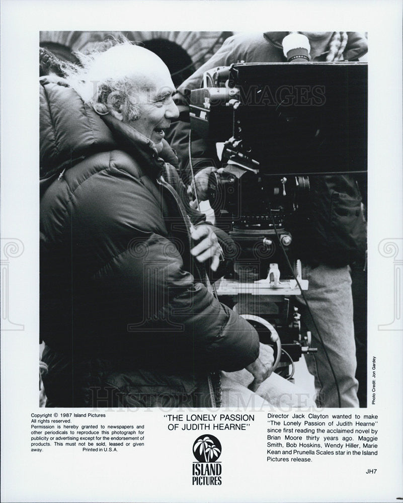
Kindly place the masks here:
<instances>
[{"instance_id":1,"label":"whole film camera with its mount and hand wheel","mask_svg":"<svg viewBox=\"0 0 403 503\"><path fill-rule=\"evenodd\" d=\"M309 176L366 171L367 65L214 68L191 92L190 123L193 137L224 142L208 193L236 249L218 294L236 303L262 342L278 333L277 371L285 374L314 351L293 300L308 288L293 248L295 216L309 205Z\"/></svg>"}]
</instances>

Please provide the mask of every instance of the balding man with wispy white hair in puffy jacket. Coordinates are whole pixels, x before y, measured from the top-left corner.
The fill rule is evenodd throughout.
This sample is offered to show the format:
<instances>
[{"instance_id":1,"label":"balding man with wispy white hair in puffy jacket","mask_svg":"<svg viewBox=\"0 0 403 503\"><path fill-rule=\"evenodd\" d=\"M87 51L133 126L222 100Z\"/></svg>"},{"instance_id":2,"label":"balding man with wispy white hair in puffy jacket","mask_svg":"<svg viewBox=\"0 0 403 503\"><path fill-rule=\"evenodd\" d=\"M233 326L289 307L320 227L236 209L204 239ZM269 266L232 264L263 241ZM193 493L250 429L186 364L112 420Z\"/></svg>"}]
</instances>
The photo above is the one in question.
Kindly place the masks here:
<instances>
[{"instance_id":1,"label":"balding man with wispy white hair in puffy jacket","mask_svg":"<svg viewBox=\"0 0 403 503\"><path fill-rule=\"evenodd\" d=\"M207 288L231 241L171 164L168 68L128 43L82 59L40 86L46 405L297 405L267 379L271 348Z\"/></svg>"}]
</instances>

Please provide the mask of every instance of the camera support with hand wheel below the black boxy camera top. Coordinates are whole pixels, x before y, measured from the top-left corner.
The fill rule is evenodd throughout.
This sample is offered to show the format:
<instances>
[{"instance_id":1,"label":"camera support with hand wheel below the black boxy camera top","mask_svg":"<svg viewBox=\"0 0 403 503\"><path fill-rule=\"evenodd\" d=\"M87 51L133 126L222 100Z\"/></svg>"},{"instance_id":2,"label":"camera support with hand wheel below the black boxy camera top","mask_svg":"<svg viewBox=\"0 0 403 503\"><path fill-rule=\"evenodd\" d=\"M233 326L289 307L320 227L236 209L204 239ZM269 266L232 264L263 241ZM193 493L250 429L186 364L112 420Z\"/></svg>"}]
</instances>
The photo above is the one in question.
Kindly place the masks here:
<instances>
[{"instance_id":1,"label":"camera support with hand wheel below the black boxy camera top","mask_svg":"<svg viewBox=\"0 0 403 503\"><path fill-rule=\"evenodd\" d=\"M294 261L296 278L290 271L283 272L288 269L284 254L292 255L287 215L297 209L298 195L301 199L308 192L309 180L262 176L258 162L244 155L242 163L237 162L234 148L229 140L223 154L228 163L211 173L208 184L209 201L216 214L221 206L228 211L228 233L236 247L234 278L223 278L216 286L217 295L229 305L235 302L233 308L256 328L260 341L274 347L276 371L292 379L289 365L302 354L316 351L310 347L310 333L302 336L300 313L294 302L300 288L308 289L299 260ZM221 216L221 226L224 221L225 216Z\"/></svg>"}]
</instances>

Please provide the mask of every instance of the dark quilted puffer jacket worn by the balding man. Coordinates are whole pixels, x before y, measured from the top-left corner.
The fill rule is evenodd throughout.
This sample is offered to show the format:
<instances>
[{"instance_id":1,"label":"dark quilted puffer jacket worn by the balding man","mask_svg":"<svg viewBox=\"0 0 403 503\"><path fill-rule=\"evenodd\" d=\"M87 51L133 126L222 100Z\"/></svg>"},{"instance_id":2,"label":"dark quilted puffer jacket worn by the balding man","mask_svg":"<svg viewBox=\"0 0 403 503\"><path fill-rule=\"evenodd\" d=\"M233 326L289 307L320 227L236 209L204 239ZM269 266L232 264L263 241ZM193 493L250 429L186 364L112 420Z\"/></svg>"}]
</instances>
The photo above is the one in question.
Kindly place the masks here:
<instances>
[{"instance_id":1,"label":"dark quilted puffer jacket worn by the balding man","mask_svg":"<svg viewBox=\"0 0 403 503\"><path fill-rule=\"evenodd\" d=\"M190 222L203 217L162 158L175 162L173 151L165 142L158 155L48 77L40 127L47 405L211 404L210 372L244 368L259 340L191 260Z\"/></svg>"}]
</instances>

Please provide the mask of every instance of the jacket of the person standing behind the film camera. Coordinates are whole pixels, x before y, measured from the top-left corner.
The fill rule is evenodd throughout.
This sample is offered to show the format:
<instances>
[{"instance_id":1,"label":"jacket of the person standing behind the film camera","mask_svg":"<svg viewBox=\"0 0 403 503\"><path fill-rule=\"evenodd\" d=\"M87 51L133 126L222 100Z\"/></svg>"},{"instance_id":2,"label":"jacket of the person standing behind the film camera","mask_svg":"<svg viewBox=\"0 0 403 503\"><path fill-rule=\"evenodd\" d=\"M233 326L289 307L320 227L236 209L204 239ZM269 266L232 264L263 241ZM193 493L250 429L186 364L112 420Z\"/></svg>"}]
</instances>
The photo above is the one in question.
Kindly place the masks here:
<instances>
[{"instance_id":1,"label":"jacket of the person standing behind the film camera","mask_svg":"<svg viewBox=\"0 0 403 503\"><path fill-rule=\"evenodd\" d=\"M239 34L225 40L221 48L179 88L176 101L181 117L188 113L188 93L200 87L203 73L216 66L228 66L237 61L285 62L282 40L288 32ZM363 34L348 32L343 53L346 61L363 61L367 54L367 40ZM315 61L326 60L326 52ZM170 143L180 159L180 173L189 178L188 138L189 122L176 122L169 133ZM215 145L205 139L192 141L195 172L216 165L219 160ZM361 193L351 175L310 176L309 207L294 215L293 238L299 258L311 263L341 267L365 257L366 224L361 211Z\"/></svg>"}]
</instances>

